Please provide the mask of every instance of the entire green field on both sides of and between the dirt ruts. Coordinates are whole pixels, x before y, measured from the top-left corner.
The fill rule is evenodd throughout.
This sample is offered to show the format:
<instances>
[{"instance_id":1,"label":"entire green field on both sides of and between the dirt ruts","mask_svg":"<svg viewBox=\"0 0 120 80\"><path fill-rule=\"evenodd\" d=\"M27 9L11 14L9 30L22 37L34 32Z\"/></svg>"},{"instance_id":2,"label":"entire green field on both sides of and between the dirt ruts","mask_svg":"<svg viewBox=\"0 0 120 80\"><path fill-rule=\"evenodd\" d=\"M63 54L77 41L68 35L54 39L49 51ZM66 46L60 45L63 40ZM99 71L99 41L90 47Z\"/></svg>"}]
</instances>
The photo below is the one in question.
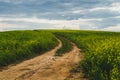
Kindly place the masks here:
<instances>
[{"instance_id":1,"label":"entire green field on both sides of and between the dirt ruts","mask_svg":"<svg viewBox=\"0 0 120 80\"><path fill-rule=\"evenodd\" d=\"M77 69L89 80L120 80L120 33L77 30L0 32L0 66L42 54L58 45L58 54L71 50L71 42L82 49ZM69 41L68 41L69 40Z\"/></svg>"}]
</instances>

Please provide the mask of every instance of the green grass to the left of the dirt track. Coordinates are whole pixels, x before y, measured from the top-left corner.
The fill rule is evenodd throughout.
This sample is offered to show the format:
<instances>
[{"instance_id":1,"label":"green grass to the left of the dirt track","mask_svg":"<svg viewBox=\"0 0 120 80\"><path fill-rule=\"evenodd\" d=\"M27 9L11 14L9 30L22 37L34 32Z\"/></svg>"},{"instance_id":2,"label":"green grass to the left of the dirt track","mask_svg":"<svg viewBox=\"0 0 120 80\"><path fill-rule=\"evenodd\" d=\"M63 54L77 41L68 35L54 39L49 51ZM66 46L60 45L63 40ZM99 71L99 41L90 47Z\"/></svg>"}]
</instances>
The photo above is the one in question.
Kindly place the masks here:
<instances>
[{"instance_id":1,"label":"green grass to the left of the dirt track","mask_svg":"<svg viewBox=\"0 0 120 80\"><path fill-rule=\"evenodd\" d=\"M49 31L0 32L0 66L39 55L57 44Z\"/></svg>"}]
</instances>

